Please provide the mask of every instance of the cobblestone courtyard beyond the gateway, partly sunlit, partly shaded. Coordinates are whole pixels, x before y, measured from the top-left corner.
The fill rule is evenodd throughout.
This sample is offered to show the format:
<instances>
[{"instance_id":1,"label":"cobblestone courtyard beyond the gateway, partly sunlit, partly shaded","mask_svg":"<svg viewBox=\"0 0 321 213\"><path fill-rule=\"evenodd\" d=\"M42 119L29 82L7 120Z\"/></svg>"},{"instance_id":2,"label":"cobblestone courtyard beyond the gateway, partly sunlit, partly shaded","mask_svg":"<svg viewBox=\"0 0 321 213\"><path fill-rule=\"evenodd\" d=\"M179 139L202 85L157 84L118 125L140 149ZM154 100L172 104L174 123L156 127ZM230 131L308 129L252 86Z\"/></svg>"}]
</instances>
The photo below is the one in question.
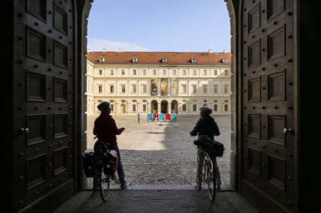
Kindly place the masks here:
<instances>
[{"instance_id":1,"label":"cobblestone courtyard beyond the gateway, partly sunlit, partly shaded","mask_svg":"<svg viewBox=\"0 0 321 213\"><path fill-rule=\"evenodd\" d=\"M87 117L87 151L94 147L92 129L98 115ZM218 123L216 140L225 146L218 159L223 185L229 184L230 115L212 115ZM197 137L189 136L199 115L177 115L177 122L147 122L146 115L114 115L117 127L125 131L117 136L128 185L193 185L196 177ZM92 182L88 178L89 183Z\"/></svg>"}]
</instances>

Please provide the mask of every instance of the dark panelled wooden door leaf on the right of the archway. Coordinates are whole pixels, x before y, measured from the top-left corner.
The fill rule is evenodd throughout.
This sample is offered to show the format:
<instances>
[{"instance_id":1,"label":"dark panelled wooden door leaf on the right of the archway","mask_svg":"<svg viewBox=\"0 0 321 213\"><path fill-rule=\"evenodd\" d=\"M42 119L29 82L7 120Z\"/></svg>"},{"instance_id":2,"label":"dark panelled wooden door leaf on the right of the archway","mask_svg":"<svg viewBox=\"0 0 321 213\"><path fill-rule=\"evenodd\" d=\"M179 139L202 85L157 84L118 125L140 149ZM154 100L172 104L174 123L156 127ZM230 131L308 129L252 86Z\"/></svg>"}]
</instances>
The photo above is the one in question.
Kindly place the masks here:
<instances>
[{"instance_id":1,"label":"dark panelled wooden door leaf on the right of the archway","mask_svg":"<svg viewBox=\"0 0 321 213\"><path fill-rule=\"evenodd\" d=\"M294 212L295 48L292 0L241 8L241 194L261 212Z\"/></svg>"}]
</instances>

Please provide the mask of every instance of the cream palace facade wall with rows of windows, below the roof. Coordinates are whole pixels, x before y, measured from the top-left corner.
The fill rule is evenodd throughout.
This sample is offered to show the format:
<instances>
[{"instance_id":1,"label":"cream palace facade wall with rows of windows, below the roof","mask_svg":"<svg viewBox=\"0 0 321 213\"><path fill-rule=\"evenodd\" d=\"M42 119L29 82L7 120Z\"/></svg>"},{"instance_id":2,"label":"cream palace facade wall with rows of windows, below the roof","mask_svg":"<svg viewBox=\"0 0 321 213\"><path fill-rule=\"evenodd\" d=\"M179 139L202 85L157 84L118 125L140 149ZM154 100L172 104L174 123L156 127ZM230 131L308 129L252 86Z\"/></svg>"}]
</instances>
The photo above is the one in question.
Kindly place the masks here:
<instances>
[{"instance_id":1,"label":"cream palace facade wall with rows of windows, below the roof","mask_svg":"<svg viewBox=\"0 0 321 213\"><path fill-rule=\"evenodd\" d=\"M136 75L134 70L136 70ZM225 70L227 70L227 75L225 75ZM198 109L204 104L211 109L214 109L214 104L216 104L217 111L214 111L214 114L228 114L231 113L230 70L230 66L226 65L166 67L134 64L115 66L94 65L87 61L87 114L99 113L96 106L101 101L111 102L112 114L150 113L153 111L153 100L157 102L158 111L160 111L161 102L166 101L168 113L172 113L171 102L177 102L175 113L179 114L198 114ZM158 95L150 95L152 78L158 80ZM160 95L162 78L168 79L168 95ZM171 95L171 78L177 78L178 95ZM225 85L228 89L227 93L225 93ZM110 86L114 87L114 91L110 91ZM125 91L122 91L123 86ZM136 91L132 91L133 86L136 86ZM146 92L143 91L143 86L146 86ZM184 91L184 86L186 86L186 91ZM196 86L196 93L193 93L193 86ZM207 86L206 93L204 86ZM217 93L214 93L214 86L217 86ZM196 104L196 111L193 110L194 104ZM225 104L227 104L227 111L225 111ZM143 110L143 105L146 105L146 111ZM183 111L184 105L185 111Z\"/></svg>"}]
</instances>

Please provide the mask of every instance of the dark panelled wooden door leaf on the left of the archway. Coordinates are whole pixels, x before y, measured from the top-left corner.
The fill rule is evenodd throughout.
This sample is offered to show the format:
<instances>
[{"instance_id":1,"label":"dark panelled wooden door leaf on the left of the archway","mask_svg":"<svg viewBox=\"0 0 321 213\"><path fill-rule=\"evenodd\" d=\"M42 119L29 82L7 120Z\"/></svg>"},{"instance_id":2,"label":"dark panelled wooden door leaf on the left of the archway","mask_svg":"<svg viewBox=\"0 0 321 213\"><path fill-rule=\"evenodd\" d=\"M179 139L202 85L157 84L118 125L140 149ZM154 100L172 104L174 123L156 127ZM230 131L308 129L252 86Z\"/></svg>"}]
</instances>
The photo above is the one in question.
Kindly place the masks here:
<instances>
[{"instance_id":1,"label":"dark panelled wooden door leaf on the left of the archway","mask_svg":"<svg viewBox=\"0 0 321 213\"><path fill-rule=\"evenodd\" d=\"M12 212L51 212L73 194L73 1L14 1Z\"/></svg>"}]
</instances>

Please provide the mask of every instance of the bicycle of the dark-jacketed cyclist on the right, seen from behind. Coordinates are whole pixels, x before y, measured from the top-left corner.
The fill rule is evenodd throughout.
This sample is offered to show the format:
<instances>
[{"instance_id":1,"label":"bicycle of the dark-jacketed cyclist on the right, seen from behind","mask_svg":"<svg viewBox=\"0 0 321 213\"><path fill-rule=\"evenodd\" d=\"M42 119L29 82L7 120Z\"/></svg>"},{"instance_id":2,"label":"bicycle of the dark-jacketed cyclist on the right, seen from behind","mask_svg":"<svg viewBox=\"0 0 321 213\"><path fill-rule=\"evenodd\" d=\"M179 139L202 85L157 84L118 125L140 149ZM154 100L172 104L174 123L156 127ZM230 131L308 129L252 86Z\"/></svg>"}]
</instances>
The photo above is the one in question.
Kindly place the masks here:
<instances>
[{"instance_id":1,"label":"bicycle of the dark-jacketed cyclist on the right, seen from behind","mask_svg":"<svg viewBox=\"0 0 321 213\"><path fill-rule=\"evenodd\" d=\"M216 196L216 168L214 165L214 161L216 160L216 157L211 158L209 154L207 154L207 152L202 152L205 156L202 179L205 185L207 185L207 190L209 192L209 201L211 201L211 203L214 203Z\"/></svg>"}]
</instances>

